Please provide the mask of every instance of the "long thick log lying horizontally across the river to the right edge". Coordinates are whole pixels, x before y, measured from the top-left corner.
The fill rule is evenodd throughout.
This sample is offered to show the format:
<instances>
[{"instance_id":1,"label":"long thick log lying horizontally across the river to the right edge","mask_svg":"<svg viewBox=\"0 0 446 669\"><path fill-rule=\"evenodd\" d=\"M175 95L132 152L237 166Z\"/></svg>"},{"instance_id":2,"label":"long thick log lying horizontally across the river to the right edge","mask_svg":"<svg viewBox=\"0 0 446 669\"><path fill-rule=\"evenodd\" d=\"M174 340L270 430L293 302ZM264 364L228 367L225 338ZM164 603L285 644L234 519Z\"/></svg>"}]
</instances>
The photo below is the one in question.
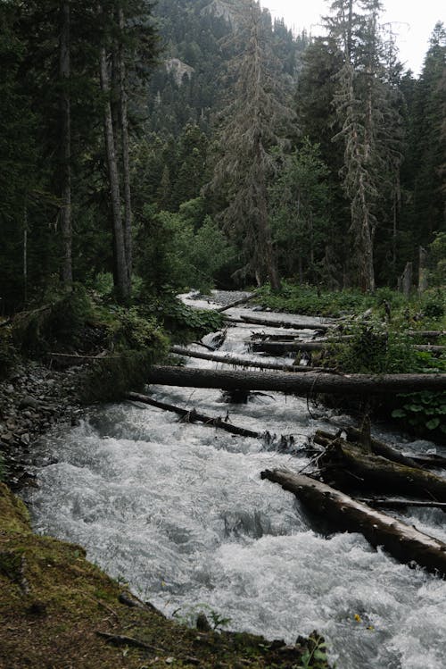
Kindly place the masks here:
<instances>
[{"instance_id":1,"label":"long thick log lying horizontally across the river to the right edge","mask_svg":"<svg viewBox=\"0 0 446 669\"><path fill-rule=\"evenodd\" d=\"M148 383L223 390L278 390L295 395L334 393L340 395L385 395L419 390L446 390L446 374L327 374L309 372L251 372L203 370L194 367L153 365Z\"/></svg>"}]
</instances>

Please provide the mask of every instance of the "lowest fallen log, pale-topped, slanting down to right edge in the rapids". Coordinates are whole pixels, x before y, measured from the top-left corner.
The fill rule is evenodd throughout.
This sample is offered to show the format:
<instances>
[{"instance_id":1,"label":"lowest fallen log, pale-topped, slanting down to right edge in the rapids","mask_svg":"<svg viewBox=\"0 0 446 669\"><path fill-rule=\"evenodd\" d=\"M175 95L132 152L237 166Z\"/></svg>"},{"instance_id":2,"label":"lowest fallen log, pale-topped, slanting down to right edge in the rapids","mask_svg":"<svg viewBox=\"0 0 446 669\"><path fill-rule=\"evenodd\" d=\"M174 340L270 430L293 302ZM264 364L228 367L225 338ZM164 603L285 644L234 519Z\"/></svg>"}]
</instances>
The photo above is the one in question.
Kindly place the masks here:
<instances>
[{"instance_id":1,"label":"lowest fallen log, pale-topped, slanting down to right edge in the rapids","mask_svg":"<svg viewBox=\"0 0 446 669\"><path fill-rule=\"evenodd\" d=\"M338 530L361 532L373 547L383 546L400 562L416 562L429 572L446 575L446 544L439 539L309 476L282 470L266 470L260 475L293 492L313 513L329 520Z\"/></svg>"}]
</instances>

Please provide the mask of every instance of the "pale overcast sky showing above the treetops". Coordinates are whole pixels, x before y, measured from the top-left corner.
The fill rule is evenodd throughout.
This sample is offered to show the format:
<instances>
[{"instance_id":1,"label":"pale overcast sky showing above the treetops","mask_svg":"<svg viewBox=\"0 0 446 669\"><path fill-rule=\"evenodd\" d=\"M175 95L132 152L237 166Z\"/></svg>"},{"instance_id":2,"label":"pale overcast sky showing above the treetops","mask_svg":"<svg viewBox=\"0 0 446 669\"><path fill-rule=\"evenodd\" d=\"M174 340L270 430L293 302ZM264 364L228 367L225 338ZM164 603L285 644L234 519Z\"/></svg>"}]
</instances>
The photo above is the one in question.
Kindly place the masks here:
<instances>
[{"instance_id":1,"label":"pale overcast sky showing above the treetops","mask_svg":"<svg viewBox=\"0 0 446 669\"><path fill-rule=\"evenodd\" d=\"M327 0L260 0L260 4L274 18L283 17L289 28L307 29L313 36L320 33L319 18L330 6ZM393 23L401 63L419 74L435 23L446 22L444 0L383 0L383 5L382 22Z\"/></svg>"}]
</instances>

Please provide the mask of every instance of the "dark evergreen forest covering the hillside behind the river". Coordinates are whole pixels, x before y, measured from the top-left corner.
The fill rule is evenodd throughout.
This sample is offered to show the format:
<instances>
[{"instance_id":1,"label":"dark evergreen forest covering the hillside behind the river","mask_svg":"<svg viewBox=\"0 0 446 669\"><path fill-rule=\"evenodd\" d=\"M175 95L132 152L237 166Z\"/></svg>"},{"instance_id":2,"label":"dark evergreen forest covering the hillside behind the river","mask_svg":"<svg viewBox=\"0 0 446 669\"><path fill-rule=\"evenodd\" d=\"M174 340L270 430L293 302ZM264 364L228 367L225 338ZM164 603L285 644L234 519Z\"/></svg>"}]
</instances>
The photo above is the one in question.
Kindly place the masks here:
<instances>
[{"instance_id":1,"label":"dark evergreen forest covering the hillside behind the river","mask_svg":"<svg viewBox=\"0 0 446 669\"><path fill-rule=\"evenodd\" d=\"M441 282L445 29L415 77L380 9L311 38L248 0L4 0L1 312L107 276L122 304Z\"/></svg>"}]
</instances>

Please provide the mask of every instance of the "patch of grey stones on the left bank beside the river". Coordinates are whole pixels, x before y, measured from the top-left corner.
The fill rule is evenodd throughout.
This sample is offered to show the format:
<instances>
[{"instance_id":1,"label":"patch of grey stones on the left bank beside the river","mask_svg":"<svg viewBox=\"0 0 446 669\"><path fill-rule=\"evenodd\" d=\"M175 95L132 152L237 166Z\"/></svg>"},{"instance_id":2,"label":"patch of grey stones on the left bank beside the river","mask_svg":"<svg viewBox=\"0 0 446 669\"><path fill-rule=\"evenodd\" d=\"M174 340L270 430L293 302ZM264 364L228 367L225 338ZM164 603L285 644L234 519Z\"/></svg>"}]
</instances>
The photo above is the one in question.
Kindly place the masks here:
<instances>
[{"instance_id":1,"label":"patch of grey stones on the left bank beside the river","mask_svg":"<svg viewBox=\"0 0 446 669\"><path fill-rule=\"evenodd\" d=\"M0 382L0 455L11 489L33 484L28 470L37 439L56 422L78 421L82 371L71 367L61 372L29 361L17 364Z\"/></svg>"}]
</instances>

